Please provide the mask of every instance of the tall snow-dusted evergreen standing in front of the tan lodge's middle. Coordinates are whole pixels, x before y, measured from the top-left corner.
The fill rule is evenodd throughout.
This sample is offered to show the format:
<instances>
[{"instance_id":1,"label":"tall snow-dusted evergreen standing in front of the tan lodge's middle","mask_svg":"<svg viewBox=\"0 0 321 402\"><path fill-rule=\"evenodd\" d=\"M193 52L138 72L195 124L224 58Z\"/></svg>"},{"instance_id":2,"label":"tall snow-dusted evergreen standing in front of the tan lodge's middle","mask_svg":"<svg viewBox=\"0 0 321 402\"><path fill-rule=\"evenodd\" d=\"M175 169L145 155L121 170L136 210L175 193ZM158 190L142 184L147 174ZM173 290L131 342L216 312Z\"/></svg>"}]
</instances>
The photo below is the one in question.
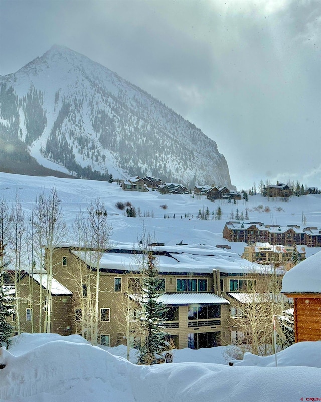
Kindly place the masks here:
<instances>
[{"instance_id":1,"label":"tall snow-dusted evergreen standing in front of the tan lodge's middle","mask_svg":"<svg viewBox=\"0 0 321 402\"><path fill-rule=\"evenodd\" d=\"M158 301L162 294L160 291L162 282L155 266L155 257L148 253L147 267L143 272L142 287L142 328L146 334L146 342L140 350L140 364L162 363L162 352L167 348L166 337L168 334L163 330L163 317L167 311L165 305Z\"/></svg>"}]
</instances>

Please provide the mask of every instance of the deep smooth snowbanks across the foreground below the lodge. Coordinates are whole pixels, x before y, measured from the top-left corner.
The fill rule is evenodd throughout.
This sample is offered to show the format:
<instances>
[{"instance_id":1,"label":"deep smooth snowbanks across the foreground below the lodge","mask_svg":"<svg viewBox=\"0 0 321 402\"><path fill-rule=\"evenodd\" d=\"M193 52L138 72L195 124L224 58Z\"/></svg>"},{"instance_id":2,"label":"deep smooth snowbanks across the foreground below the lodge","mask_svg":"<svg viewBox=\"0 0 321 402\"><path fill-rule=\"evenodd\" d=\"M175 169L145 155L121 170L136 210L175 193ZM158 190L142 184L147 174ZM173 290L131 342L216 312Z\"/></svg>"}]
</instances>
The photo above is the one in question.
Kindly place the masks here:
<instances>
[{"instance_id":1,"label":"deep smooth snowbanks across the foreground below the lodge","mask_svg":"<svg viewBox=\"0 0 321 402\"><path fill-rule=\"evenodd\" d=\"M215 350L218 349L218 350ZM295 402L321 397L320 342L222 364L221 348L174 351L177 364L138 366L78 335L22 334L3 348L0 400ZM303 398L303 399L301 399ZM319 399L314 399L319 400Z\"/></svg>"}]
</instances>

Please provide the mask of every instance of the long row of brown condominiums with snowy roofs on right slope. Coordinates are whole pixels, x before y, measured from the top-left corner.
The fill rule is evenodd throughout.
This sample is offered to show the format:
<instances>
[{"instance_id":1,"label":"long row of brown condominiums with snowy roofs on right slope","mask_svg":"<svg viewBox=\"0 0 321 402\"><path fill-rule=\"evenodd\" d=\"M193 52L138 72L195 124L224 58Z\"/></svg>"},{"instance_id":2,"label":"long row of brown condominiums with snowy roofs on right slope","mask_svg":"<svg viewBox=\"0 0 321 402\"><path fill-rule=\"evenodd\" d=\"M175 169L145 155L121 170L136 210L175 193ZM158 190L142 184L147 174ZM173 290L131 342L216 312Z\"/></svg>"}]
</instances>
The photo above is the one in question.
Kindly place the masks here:
<instances>
[{"instance_id":1,"label":"long row of brown condominiums with snowy roofs on right slope","mask_svg":"<svg viewBox=\"0 0 321 402\"><path fill-rule=\"evenodd\" d=\"M262 222L226 222L223 237L230 242L247 244L270 243L285 246L306 245L321 247L321 229L309 226L301 229L298 225L264 225Z\"/></svg>"}]
</instances>

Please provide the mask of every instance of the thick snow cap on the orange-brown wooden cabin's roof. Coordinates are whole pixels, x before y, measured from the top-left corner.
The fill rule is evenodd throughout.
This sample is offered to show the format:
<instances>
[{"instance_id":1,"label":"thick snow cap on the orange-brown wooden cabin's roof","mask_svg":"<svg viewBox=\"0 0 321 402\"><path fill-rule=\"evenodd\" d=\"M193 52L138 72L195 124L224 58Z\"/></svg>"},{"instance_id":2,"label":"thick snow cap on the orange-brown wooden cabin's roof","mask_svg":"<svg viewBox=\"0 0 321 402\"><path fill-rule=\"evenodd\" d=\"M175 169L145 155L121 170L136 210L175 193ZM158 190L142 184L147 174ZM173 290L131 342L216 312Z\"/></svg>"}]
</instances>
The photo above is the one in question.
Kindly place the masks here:
<instances>
[{"instance_id":1,"label":"thick snow cap on the orange-brown wooden cabin's roof","mask_svg":"<svg viewBox=\"0 0 321 402\"><path fill-rule=\"evenodd\" d=\"M321 251L285 273L281 292L321 294Z\"/></svg>"}]
</instances>

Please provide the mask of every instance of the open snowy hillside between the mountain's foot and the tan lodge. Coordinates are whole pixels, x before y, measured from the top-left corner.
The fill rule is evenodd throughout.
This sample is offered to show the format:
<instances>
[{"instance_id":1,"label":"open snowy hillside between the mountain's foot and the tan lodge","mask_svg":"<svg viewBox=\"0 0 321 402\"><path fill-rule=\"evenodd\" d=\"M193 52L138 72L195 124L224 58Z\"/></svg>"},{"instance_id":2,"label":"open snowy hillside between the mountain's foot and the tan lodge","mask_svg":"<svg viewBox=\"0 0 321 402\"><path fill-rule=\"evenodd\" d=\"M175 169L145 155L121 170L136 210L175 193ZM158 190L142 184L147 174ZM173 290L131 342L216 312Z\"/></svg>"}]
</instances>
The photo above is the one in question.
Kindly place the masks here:
<instances>
[{"instance_id":1,"label":"open snowy hillside between the mountain's foot and the tan lodge","mask_svg":"<svg viewBox=\"0 0 321 402\"><path fill-rule=\"evenodd\" d=\"M215 250L217 264L220 266L244 263L239 255L242 254L245 243L227 242L222 237L225 222L231 220L232 211L235 215L236 209L241 214L241 212L245 213L245 208L248 208L249 220L252 222L303 227L302 216L305 216L304 226L321 228L321 195L294 196L288 202L282 202L272 198L268 200L257 194L249 196L248 202L240 200L236 204L229 204L227 201L213 203L204 196L193 197L190 194L162 195L158 191L144 193L123 191L116 183L102 181L0 173L0 198L12 203L18 193L26 216L30 213L36 196L42 191L45 195L49 194L52 187L57 190L69 228L78 211L80 209L86 211L90 203L99 196L106 205L109 222L113 227L111 237L115 244L132 245L137 242L144 225L147 231L154 234L155 241L165 243L167 247L182 247L175 245L183 240L183 243L187 244L185 246L187 249L192 246L199 248L201 244L205 245L204 248L209 250L210 254L213 254ZM131 202L137 210L137 217L125 216L124 211L117 209L115 205L118 201ZM166 209L162 206L163 208L166 206ZM212 220L212 214L214 213L215 216L218 206L222 209L221 220ZM258 208L259 206L263 208ZM209 209L210 219L198 219L199 210L206 210L206 208ZM140 216L138 216L139 213ZM217 249L215 247L217 244L229 244L231 249L229 251ZM306 256L319 250L306 248Z\"/></svg>"}]
</instances>

